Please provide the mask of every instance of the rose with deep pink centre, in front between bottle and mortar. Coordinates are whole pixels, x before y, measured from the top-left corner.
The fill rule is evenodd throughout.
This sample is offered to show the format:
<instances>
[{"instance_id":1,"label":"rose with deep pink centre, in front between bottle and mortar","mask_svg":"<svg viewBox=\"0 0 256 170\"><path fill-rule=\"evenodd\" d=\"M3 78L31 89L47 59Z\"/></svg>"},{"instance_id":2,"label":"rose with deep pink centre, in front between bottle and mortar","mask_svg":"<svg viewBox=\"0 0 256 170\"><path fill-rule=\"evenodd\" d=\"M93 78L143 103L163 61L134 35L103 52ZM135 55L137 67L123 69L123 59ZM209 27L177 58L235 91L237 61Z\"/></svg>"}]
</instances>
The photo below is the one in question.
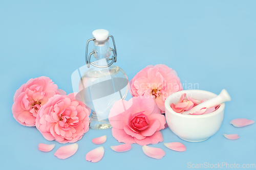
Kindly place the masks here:
<instances>
[{"instance_id":1,"label":"rose with deep pink centre, in front between bottle and mortar","mask_svg":"<svg viewBox=\"0 0 256 170\"><path fill-rule=\"evenodd\" d=\"M165 117L151 97L117 101L110 110L109 121L112 135L119 142L146 145L163 141L160 130L164 129Z\"/></svg>"}]
</instances>

